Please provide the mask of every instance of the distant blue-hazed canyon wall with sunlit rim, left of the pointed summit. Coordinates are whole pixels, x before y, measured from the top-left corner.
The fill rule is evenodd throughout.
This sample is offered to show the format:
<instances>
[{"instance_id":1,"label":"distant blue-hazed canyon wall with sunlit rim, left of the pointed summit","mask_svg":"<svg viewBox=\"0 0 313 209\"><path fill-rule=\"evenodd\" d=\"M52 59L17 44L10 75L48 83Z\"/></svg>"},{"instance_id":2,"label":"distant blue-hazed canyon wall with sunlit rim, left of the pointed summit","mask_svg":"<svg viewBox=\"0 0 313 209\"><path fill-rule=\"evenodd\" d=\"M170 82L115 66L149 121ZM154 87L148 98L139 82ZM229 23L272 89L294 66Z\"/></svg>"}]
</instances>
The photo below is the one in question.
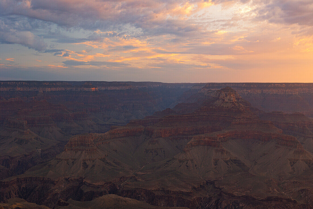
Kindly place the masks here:
<instances>
[{"instance_id":1,"label":"distant blue-hazed canyon wall with sunlit rim, left of the pointed summit","mask_svg":"<svg viewBox=\"0 0 313 209\"><path fill-rule=\"evenodd\" d=\"M176 98L192 85L153 82L0 82L0 97L3 98L0 101L0 122L18 112L31 117L37 113L42 115L39 113L42 111L51 116L54 123L66 133L105 132L112 125L123 125L176 104ZM33 107L37 107L36 110ZM53 115L54 110L59 114ZM63 124L62 121L66 120L67 124Z\"/></svg>"}]
</instances>

